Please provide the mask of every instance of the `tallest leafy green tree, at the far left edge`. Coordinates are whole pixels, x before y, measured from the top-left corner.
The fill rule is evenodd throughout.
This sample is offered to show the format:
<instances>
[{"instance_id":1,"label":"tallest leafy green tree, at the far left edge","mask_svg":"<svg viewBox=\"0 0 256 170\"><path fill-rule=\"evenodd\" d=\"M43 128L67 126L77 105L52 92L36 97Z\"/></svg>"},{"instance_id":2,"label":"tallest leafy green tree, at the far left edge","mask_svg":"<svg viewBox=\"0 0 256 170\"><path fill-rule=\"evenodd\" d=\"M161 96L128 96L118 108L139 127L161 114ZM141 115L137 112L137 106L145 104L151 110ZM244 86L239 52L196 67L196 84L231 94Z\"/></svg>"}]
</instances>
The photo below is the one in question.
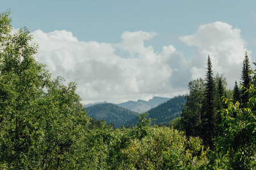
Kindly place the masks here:
<instances>
[{"instance_id":1,"label":"tallest leafy green tree, at the far left edge","mask_svg":"<svg viewBox=\"0 0 256 170\"><path fill-rule=\"evenodd\" d=\"M38 135L42 129L36 126L49 74L32 57L37 46L30 44L32 36L28 35L28 30L23 28L11 35L10 22L6 22L10 21L9 15L9 11L1 14L0 22L4 31L1 32L0 52L1 160L20 169L31 166L31 158L25 155L34 157L37 148L33 146L40 141Z\"/></svg>"}]
</instances>

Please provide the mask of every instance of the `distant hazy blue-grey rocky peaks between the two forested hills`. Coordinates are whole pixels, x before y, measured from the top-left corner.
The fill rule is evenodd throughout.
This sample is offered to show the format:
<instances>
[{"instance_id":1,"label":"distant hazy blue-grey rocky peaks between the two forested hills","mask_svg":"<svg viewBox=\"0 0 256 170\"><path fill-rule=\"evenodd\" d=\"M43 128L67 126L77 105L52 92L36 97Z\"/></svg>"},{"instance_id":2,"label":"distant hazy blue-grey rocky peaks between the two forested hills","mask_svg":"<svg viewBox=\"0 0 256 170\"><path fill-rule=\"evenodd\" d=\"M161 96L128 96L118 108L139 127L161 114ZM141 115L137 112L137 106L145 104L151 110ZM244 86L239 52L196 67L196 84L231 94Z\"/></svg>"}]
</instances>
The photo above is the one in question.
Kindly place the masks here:
<instances>
[{"instance_id":1,"label":"distant hazy blue-grey rocky peaks between the two forested hills","mask_svg":"<svg viewBox=\"0 0 256 170\"><path fill-rule=\"evenodd\" d=\"M148 101L145 101L145 100L138 100L137 102L136 101L127 101L125 103L120 103L117 105L119 105L120 107L129 109L131 111L134 111L134 112L139 111L139 112L143 113L143 112L148 111L151 108L156 107L159 104L166 102L167 100L170 100L170 98L153 97L153 99L150 99Z\"/></svg>"}]
</instances>

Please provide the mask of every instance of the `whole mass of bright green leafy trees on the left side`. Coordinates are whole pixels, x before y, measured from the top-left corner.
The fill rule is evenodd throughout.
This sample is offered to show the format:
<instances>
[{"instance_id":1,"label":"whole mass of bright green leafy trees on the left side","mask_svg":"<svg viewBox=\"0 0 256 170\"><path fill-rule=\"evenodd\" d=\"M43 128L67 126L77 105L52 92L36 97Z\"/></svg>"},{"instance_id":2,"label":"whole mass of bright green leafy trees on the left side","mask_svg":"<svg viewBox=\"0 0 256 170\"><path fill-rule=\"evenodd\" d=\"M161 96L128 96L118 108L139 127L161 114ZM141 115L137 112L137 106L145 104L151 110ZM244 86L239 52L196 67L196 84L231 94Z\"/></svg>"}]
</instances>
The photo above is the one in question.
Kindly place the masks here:
<instances>
[{"instance_id":1,"label":"whole mass of bright green leafy trees on the left side","mask_svg":"<svg viewBox=\"0 0 256 170\"><path fill-rule=\"evenodd\" d=\"M51 80L30 32L13 35L9 15L0 15L0 169L72 169L88 122L76 84Z\"/></svg>"}]
</instances>

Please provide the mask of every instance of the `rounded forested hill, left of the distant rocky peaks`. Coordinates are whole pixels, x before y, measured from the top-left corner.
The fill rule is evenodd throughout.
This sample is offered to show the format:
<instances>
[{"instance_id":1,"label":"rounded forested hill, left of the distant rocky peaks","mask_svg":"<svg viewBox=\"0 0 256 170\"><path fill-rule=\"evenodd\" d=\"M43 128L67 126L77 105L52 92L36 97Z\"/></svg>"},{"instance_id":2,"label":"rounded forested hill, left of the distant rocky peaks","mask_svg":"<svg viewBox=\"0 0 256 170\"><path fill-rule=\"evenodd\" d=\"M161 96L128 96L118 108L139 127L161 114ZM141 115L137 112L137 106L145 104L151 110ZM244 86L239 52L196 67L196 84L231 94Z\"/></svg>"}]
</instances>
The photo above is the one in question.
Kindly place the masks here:
<instances>
[{"instance_id":1,"label":"rounded forested hill, left of the distant rocky peaks","mask_svg":"<svg viewBox=\"0 0 256 170\"><path fill-rule=\"evenodd\" d=\"M97 120L105 120L107 124L113 123L115 127L119 128L121 125L126 124L134 117L138 116L137 112L130 111L119 107L112 103L101 103L86 107L89 117L94 117Z\"/></svg>"}]
</instances>

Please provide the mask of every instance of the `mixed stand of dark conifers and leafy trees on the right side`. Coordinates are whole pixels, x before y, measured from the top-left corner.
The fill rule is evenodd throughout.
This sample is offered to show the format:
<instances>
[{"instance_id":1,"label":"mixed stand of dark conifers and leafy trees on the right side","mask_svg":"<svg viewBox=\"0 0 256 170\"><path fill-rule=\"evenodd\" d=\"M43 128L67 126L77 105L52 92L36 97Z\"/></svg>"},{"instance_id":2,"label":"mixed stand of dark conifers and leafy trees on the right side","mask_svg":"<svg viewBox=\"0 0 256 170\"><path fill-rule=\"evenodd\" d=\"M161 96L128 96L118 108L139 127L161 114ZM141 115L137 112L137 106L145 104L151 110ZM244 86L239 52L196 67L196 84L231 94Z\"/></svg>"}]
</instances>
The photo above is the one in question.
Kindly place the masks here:
<instances>
[{"instance_id":1,"label":"mixed stand of dark conifers and leafy trees on the right side","mask_svg":"<svg viewBox=\"0 0 256 170\"><path fill-rule=\"evenodd\" d=\"M208 56L206 78L189 82L189 94L181 117L172 126L187 137L200 137L223 169L253 169L256 162L255 72L247 52L241 73L241 88L226 89L224 75L214 77ZM216 163L217 165L217 163Z\"/></svg>"}]
</instances>

